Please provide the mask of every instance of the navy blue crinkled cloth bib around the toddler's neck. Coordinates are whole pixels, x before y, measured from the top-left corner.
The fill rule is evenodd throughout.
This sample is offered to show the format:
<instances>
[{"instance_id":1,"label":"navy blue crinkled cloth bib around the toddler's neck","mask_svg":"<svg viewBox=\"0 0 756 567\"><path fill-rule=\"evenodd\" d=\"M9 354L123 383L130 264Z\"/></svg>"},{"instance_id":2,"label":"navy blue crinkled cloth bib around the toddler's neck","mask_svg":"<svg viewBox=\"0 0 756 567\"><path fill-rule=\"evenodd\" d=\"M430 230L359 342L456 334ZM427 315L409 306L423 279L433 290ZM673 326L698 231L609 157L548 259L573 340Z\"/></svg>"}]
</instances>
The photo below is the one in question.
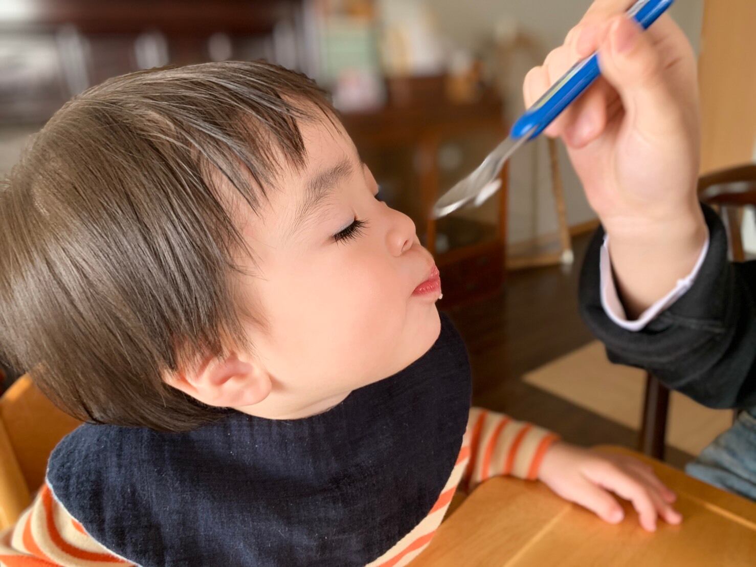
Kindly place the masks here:
<instances>
[{"instance_id":1,"label":"navy blue crinkled cloth bib around the toddler's neck","mask_svg":"<svg viewBox=\"0 0 756 567\"><path fill-rule=\"evenodd\" d=\"M184 433L83 425L48 465L60 503L139 565L364 565L431 510L470 404L451 321L401 372L324 414L233 412Z\"/></svg>"}]
</instances>

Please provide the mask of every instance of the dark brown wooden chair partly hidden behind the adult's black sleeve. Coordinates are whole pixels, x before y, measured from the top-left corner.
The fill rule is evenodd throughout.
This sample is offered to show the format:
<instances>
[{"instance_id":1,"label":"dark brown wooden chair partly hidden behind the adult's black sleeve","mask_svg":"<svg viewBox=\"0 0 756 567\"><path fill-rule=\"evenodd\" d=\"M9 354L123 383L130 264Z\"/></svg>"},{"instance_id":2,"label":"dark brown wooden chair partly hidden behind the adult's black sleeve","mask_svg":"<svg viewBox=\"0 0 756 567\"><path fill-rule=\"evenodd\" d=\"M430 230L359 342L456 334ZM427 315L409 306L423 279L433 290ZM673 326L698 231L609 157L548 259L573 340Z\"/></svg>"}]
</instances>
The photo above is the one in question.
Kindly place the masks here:
<instances>
[{"instance_id":1,"label":"dark brown wooden chair partly hidden behind the adult's black sleeve","mask_svg":"<svg viewBox=\"0 0 756 567\"><path fill-rule=\"evenodd\" d=\"M702 175L698 191L702 202L717 209L722 217L727 228L730 258L734 262L743 262L745 253L740 234L742 208L756 206L756 164ZM664 459L668 409L669 390L651 373L646 373L646 395L638 448L655 459Z\"/></svg>"}]
</instances>

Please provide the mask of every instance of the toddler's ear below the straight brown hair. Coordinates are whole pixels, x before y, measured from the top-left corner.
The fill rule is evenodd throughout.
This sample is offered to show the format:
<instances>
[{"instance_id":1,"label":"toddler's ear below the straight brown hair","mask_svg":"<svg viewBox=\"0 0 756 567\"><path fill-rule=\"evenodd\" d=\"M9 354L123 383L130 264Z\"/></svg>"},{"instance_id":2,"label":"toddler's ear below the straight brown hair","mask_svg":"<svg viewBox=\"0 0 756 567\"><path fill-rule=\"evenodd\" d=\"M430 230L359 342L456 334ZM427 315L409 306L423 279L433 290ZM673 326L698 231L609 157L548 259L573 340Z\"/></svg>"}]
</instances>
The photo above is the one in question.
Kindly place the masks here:
<instances>
[{"instance_id":1,"label":"toddler's ear below the straight brown hair","mask_svg":"<svg viewBox=\"0 0 756 567\"><path fill-rule=\"evenodd\" d=\"M271 376L257 361L237 353L209 356L170 376L166 383L205 404L240 407L258 404L271 393Z\"/></svg>"}]
</instances>

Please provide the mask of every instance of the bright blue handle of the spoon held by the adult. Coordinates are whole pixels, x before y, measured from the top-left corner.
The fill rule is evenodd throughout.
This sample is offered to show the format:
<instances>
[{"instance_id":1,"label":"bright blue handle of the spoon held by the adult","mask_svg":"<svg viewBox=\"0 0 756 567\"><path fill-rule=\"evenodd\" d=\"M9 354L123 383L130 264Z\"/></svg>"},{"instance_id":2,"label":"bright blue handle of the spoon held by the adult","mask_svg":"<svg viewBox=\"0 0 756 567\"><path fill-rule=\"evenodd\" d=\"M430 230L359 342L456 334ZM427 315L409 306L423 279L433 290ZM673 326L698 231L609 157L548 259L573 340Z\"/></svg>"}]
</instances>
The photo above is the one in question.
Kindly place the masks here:
<instances>
[{"instance_id":1,"label":"bright blue handle of the spoon held by the adult","mask_svg":"<svg viewBox=\"0 0 756 567\"><path fill-rule=\"evenodd\" d=\"M643 29L648 29L672 2L674 0L638 0L627 10L627 16L633 17ZM510 132L512 138L519 139L527 135L528 139L532 139L541 134L600 74L599 56L596 52L578 61L517 119Z\"/></svg>"}]
</instances>

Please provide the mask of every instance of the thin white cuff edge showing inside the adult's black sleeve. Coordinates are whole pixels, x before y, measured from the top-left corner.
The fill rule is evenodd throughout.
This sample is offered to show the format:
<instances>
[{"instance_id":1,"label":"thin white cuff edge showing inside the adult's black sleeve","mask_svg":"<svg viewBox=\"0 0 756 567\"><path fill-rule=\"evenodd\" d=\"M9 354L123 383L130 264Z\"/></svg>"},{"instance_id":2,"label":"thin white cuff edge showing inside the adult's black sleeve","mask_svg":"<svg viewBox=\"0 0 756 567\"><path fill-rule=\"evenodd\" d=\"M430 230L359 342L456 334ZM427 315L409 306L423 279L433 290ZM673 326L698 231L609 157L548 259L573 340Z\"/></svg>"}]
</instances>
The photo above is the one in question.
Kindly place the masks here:
<instances>
[{"instance_id":1,"label":"thin white cuff edge showing inside the adult's black sleeve","mask_svg":"<svg viewBox=\"0 0 756 567\"><path fill-rule=\"evenodd\" d=\"M599 270L601 277L601 305L604 308L606 315L614 321L616 325L623 329L631 331L639 331L646 327L646 325L659 313L664 311L670 305L680 299L683 294L690 289L693 282L696 280L696 276L699 274L706 253L708 252L709 239L706 237L706 242L701 249L701 255L696 261L696 265L693 266L692 271L686 275L686 277L677 280L677 285L662 299L659 299L653 305L643 311L640 317L635 321L627 321L627 315L624 312L624 307L617 295L617 287L615 286L614 275L612 274L612 262L609 259L609 235L604 237L603 246L601 246L601 253L599 259Z\"/></svg>"}]
</instances>

